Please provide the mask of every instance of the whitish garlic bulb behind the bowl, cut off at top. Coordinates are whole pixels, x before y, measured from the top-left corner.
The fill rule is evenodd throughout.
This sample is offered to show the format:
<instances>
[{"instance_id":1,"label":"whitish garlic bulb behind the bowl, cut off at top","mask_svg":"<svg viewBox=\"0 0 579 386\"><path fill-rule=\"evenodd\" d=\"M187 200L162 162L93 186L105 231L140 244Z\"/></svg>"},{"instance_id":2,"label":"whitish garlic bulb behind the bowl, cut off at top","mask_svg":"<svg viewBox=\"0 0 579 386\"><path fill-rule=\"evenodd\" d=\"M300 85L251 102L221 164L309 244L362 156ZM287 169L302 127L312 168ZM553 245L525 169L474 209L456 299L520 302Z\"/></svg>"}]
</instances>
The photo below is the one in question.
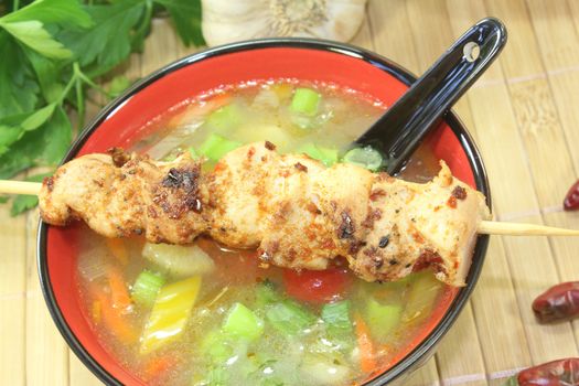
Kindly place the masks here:
<instances>
[{"instance_id":1,"label":"whitish garlic bulb behind the bowl, cut off at top","mask_svg":"<svg viewBox=\"0 0 579 386\"><path fill-rule=\"evenodd\" d=\"M202 0L203 36L218 45L269 36L349 41L366 0Z\"/></svg>"}]
</instances>

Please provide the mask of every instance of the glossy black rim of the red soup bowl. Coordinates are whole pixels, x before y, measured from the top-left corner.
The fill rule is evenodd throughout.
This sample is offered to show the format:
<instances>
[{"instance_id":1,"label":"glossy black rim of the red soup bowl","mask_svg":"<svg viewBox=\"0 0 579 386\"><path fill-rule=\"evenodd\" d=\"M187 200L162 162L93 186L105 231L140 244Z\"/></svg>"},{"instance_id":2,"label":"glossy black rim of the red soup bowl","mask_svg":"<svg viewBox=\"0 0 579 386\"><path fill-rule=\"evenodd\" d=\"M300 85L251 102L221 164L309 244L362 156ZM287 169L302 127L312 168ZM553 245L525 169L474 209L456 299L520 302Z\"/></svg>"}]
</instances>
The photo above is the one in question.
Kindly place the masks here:
<instances>
[{"instance_id":1,"label":"glossy black rim of the red soup bowl","mask_svg":"<svg viewBox=\"0 0 579 386\"><path fill-rule=\"evenodd\" d=\"M297 49L308 49L308 50L320 50L329 51L342 55L353 56L360 60L363 60L384 72L396 77L398 81L403 82L406 85L411 85L416 81L409 71L403 66L387 60L376 53L371 51L344 43L337 43L333 41L324 41L317 39L302 39L302 37L274 37L274 39L259 39L250 40L238 43L226 44L208 50L204 50L189 56L185 56L181 60L178 60L158 71L150 74L149 76L142 78L140 82L136 83L129 89L127 89L122 95L117 97L115 100L110 101L81 132L74 143L71 146L71 149L66 153L62 163L69 161L79 151L82 146L90 137L93 131L95 131L100 124L114 112L120 105L122 105L128 98L149 86L151 83L157 82L163 76L178 71L182 67L189 66L193 63L203 61L205 58L224 55L228 53L235 53L240 51L251 51L251 50L261 50L270 47L297 47ZM452 129L461 147L467 152L469 158L470 165L474 172L474 179L476 183L476 189L486 196L487 205L491 206L491 192L489 186L489 180L486 176L486 171L482 163L482 158L479 149L474 144L474 141L470 133L464 128L464 125L459 120L454 112L447 112L444 120L447 125ZM46 264L46 237L47 237L49 225L40 221L39 224L39 236L37 236L37 270L40 277L40 283L44 300L49 307L52 319L54 320L58 331L63 335L64 340L71 347L71 350L76 354L76 356L83 362L92 372L95 374L101 382L107 385L121 385L121 383L116 379L109 372L107 372L98 362L85 350L81 342L76 339L73 331L64 320L63 313L56 302L54 291L49 278L49 267ZM467 279L468 285L460 289L459 293L454 298L452 304L450 304L448 312L442 317L438 325L430 332L430 334L417 346L415 347L405 358L403 358L398 364L388 371L384 372L376 378L369 380L365 385L367 386L377 386L385 385L389 382L395 380L406 371L420 365L422 361L426 361L429 357L429 353L432 352L435 346L439 343L440 339L449 331L451 325L457 320L460 311L467 303L472 290L474 289L481 269L483 266L485 253L489 246L489 236L479 236L476 240L476 246L474 249L472 265L469 270L469 276ZM421 361L422 360L422 361Z\"/></svg>"}]
</instances>

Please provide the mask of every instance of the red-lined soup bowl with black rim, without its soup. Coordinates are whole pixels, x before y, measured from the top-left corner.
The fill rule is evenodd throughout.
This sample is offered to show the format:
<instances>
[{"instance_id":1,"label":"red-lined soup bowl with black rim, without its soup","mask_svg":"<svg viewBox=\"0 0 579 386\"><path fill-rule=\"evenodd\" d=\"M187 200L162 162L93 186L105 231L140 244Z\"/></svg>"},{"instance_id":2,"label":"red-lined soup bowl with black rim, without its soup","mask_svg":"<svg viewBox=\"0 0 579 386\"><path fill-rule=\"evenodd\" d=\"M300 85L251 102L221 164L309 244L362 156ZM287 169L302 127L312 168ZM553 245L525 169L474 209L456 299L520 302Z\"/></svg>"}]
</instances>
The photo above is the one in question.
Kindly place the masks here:
<instances>
[{"instance_id":1,"label":"red-lined soup bowl with black rim, without its soup","mask_svg":"<svg viewBox=\"0 0 579 386\"><path fill-rule=\"evenodd\" d=\"M109 104L82 132L64 161L128 147L147 132L147 122L180 103L221 85L270 78L322 81L368 94L390 106L415 81L406 69L351 45L305 39L249 41L207 50L163 67ZM435 153L453 174L490 200L489 183L471 137L449 112L431 135ZM490 202L489 202L490 204ZM97 377L107 384L140 385L95 336L82 312L76 287L77 229L41 222L37 264L44 298L64 339ZM368 385L382 385L409 374L433 352L454 322L479 277L489 238L478 239L467 286L448 289L427 326L393 361L377 369Z\"/></svg>"}]
</instances>

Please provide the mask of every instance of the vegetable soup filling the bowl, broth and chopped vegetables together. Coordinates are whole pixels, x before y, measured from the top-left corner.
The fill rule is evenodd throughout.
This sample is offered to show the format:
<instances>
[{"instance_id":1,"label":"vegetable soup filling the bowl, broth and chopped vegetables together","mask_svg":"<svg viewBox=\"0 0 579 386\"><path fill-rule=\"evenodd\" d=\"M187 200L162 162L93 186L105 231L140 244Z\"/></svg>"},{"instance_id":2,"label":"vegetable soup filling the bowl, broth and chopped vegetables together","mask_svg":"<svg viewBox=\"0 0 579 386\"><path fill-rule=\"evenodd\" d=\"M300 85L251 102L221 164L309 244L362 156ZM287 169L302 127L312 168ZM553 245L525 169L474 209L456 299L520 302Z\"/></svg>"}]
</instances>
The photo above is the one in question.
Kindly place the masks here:
<instances>
[{"instance_id":1,"label":"vegetable soup filling the bowl, broth and chopped vegetables together","mask_svg":"<svg viewBox=\"0 0 579 386\"><path fill-rule=\"evenodd\" d=\"M268 82L228 87L162 117L137 143L154 159L181 151L208 160L268 140L325 165L383 165L350 143L382 112L332 85ZM404 176L437 167L427 148ZM443 285L429 271L368 283L336 258L323 271L260 266L253 250L208 238L191 246L83 236L79 291L101 344L153 385L351 385L407 352Z\"/></svg>"}]
</instances>

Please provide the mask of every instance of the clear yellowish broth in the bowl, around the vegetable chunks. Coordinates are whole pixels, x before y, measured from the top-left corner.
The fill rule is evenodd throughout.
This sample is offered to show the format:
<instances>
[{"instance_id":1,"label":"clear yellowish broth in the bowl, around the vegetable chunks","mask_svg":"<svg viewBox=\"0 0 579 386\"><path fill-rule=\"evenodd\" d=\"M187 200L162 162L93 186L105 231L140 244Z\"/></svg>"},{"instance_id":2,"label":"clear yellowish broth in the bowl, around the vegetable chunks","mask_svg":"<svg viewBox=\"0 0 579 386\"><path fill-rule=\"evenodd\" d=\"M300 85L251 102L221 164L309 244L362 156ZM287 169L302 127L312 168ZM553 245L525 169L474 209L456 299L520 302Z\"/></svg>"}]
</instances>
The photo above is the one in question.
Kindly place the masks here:
<instances>
[{"instance_id":1,"label":"clear yellowish broth in the bowl, around the vegetable chunks","mask_svg":"<svg viewBox=\"0 0 579 386\"><path fill-rule=\"evenodd\" d=\"M320 112L314 118L296 118L291 111L289 106L297 87L314 88L322 95ZM234 128L211 118L213 111L226 105L236 106L238 117L235 120L238 125ZM384 106L379 103L334 85L304 84L289 79L249 83L221 88L179 106L152 122L148 130L152 135L136 143L133 150L147 152L157 159L170 159L190 147L195 148L211 133L219 133L243 143L269 140L281 152L296 151L305 143L315 143L336 148L343 154L347 146L383 110ZM304 125L313 128L302 128ZM207 168L212 168L212 164ZM437 160L428 146L422 146L400 176L426 181L437 171ZM347 290L335 300L347 300L350 321L353 322L354 318L365 319L369 329L375 368L363 371L355 328L352 328L350 336L336 339L329 333L328 323L320 317L322 305L301 302L303 309L315 317L315 321L297 336L285 336L267 323L266 311L259 304L257 294L260 286L268 282L279 293L279 301L290 299L285 290L283 269L261 268L255 251L229 249L202 237L195 244L214 260L215 270L202 278L201 290L186 328L179 339L150 354L141 355L139 339L128 344L110 329L104 320L101 304L98 305L99 298L95 293L110 292L110 281L104 274L104 267L116 267L129 291L143 269L163 271L163 268L143 258L143 239L135 237L120 243L120 248L128 257L127 264L119 262L106 239L89 229L83 232L78 258L79 299L103 346L148 384L305 386L363 383L374 372L388 366L408 347L430 319L444 289L430 271L414 274L399 282L388 283L368 283L349 274ZM337 260L336 265L340 264L343 262ZM171 275L167 277L168 282L180 280ZM219 329L228 310L236 302L243 303L258 318L266 320L265 330L256 341L237 342L230 357L216 364L207 355L206 349L203 349L203 342ZM387 333L380 331L380 325L368 320L371 302L393 304L401 310L397 322ZM133 304L119 310L119 318L139 336L150 311L150 308ZM164 366L151 365L168 362L162 361L165 357L171 361ZM216 366L225 369L226 377L215 374Z\"/></svg>"}]
</instances>

